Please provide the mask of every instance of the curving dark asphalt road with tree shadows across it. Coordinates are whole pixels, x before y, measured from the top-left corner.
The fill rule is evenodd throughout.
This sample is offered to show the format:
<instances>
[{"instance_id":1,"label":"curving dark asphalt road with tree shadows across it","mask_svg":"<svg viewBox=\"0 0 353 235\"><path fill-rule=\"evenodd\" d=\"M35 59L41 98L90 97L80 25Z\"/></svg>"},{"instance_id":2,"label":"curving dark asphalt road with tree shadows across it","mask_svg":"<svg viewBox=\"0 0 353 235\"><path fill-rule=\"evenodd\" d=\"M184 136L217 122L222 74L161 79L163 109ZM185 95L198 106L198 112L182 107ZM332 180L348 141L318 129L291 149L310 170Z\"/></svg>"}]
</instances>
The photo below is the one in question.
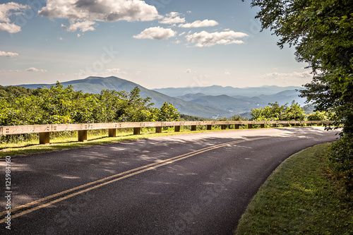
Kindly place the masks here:
<instances>
[{"instance_id":1,"label":"curving dark asphalt road with tree shadows across it","mask_svg":"<svg viewBox=\"0 0 353 235\"><path fill-rule=\"evenodd\" d=\"M11 157L11 230L1 234L232 234L253 195L323 128L174 135ZM3 193L1 192L1 193Z\"/></svg>"}]
</instances>

